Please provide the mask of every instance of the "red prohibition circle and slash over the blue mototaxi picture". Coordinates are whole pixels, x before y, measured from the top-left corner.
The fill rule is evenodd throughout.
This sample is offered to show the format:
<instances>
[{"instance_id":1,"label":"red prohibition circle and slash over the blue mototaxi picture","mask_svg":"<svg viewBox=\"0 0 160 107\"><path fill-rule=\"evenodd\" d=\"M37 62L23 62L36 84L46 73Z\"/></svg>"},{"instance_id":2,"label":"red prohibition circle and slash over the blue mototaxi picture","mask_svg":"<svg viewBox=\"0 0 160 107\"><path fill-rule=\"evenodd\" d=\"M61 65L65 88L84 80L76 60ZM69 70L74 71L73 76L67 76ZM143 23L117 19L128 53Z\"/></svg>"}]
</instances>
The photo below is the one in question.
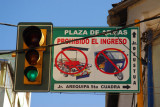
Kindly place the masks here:
<instances>
[{"instance_id":1,"label":"red prohibition circle and slash over the blue mototaxi picture","mask_svg":"<svg viewBox=\"0 0 160 107\"><path fill-rule=\"evenodd\" d=\"M117 67L117 65L104 53L104 51L107 51L107 50L108 50L108 51L110 51L110 50L118 51L118 52L120 52L120 53L122 53L122 54L124 55L124 57L125 57L125 65L124 65L124 67L123 67L122 69L119 69L119 68ZM116 69L118 72L110 73L110 72L105 72L105 70L100 69L99 66L98 66L98 63L97 63L97 58L98 58L98 56L99 56L100 54L102 54L102 55L115 67L115 69ZM105 74L118 74L118 73L122 72L122 71L127 67L127 65L128 65L128 58L127 58L127 55L126 55L123 51L121 51L120 49L107 48L107 49L104 49L104 50L100 51L100 52L96 55L95 65L96 65L97 69L98 69L99 71L101 71L102 73L105 73Z\"/></svg>"}]
</instances>

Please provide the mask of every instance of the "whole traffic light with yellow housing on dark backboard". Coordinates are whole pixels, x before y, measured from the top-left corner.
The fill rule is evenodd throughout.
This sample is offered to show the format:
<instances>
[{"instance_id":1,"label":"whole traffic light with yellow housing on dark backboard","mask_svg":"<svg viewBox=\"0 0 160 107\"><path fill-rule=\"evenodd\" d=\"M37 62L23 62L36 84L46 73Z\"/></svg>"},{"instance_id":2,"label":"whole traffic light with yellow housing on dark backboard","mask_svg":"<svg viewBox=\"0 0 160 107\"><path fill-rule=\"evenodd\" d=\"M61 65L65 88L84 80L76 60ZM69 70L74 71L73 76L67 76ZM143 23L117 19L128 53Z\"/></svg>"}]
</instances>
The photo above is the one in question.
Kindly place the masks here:
<instances>
[{"instance_id":1,"label":"whole traffic light with yellow housing on dark backboard","mask_svg":"<svg viewBox=\"0 0 160 107\"><path fill-rule=\"evenodd\" d=\"M15 91L49 91L52 23L19 23Z\"/></svg>"}]
</instances>

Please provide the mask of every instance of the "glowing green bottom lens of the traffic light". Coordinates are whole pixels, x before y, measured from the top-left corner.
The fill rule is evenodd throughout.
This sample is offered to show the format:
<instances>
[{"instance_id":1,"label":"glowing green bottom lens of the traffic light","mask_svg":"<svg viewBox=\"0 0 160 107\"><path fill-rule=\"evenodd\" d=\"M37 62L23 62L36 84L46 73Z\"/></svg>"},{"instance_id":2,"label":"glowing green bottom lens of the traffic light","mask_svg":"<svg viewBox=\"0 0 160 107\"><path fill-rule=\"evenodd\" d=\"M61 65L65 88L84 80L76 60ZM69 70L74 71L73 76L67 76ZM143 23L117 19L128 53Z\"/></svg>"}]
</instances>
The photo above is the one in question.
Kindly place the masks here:
<instances>
[{"instance_id":1,"label":"glowing green bottom lens of the traffic light","mask_svg":"<svg viewBox=\"0 0 160 107\"><path fill-rule=\"evenodd\" d=\"M24 74L28 81L34 82L38 76L38 70L33 66L29 66L25 69Z\"/></svg>"}]
</instances>

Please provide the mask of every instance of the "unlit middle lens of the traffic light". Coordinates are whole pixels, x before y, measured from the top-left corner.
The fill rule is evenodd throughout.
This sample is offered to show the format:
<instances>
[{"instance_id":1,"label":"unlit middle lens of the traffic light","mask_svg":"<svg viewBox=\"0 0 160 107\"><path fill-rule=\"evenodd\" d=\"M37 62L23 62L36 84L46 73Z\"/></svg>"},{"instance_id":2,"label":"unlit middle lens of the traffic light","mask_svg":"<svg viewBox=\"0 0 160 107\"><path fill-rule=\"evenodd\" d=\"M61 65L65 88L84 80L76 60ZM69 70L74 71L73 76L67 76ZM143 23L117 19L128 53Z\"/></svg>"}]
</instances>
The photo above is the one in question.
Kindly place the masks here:
<instances>
[{"instance_id":1,"label":"unlit middle lens of the traffic light","mask_svg":"<svg viewBox=\"0 0 160 107\"><path fill-rule=\"evenodd\" d=\"M36 65L39 61L39 53L35 49L28 50L25 57L30 65Z\"/></svg>"}]
</instances>

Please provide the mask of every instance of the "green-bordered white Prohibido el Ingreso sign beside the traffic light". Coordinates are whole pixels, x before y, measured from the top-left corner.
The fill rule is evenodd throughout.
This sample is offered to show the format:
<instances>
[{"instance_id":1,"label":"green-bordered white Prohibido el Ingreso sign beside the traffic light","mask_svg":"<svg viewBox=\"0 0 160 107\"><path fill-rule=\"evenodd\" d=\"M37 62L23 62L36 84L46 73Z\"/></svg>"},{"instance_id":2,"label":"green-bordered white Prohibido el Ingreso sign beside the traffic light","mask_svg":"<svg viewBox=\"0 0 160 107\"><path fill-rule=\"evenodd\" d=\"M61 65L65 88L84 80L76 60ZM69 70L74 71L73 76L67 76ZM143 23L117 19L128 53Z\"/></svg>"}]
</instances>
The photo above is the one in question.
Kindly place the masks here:
<instances>
[{"instance_id":1,"label":"green-bordered white Prohibido el Ingreso sign beside the traffic light","mask_svg":"<svg viewBox=\"0 0 160 107\"><path fill-rule=\"evenodd\" d=\"M51 92L139 92L139 28L80 39L115 29L55 27Z\"/></svg>"}]
</instances>

